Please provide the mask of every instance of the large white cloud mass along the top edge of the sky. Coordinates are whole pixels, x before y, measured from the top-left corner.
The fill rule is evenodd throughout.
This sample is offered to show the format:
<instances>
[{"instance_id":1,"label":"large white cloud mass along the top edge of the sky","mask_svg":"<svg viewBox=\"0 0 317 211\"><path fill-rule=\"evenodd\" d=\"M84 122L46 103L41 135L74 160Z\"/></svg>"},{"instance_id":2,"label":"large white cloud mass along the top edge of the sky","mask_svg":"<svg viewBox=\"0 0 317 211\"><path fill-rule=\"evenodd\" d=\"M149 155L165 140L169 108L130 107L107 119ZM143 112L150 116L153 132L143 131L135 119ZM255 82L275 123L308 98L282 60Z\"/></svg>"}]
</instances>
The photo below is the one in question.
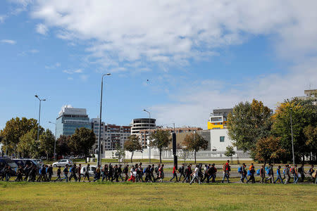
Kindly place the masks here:
<instances>
[{"instance_id":1,"label":"large white cloud mass along the top edge of the sky","mask_svg":"<svg viewBox=\"0 0 317 211\"><path fill-rule=\"evenodd\" d=\"M297 0L35 1L32 17L57 27L61 39L89 40L100 63L186 65L254 34L271 35L281 56L316 53L316 7Z\"/></svg>"}]
</instances>

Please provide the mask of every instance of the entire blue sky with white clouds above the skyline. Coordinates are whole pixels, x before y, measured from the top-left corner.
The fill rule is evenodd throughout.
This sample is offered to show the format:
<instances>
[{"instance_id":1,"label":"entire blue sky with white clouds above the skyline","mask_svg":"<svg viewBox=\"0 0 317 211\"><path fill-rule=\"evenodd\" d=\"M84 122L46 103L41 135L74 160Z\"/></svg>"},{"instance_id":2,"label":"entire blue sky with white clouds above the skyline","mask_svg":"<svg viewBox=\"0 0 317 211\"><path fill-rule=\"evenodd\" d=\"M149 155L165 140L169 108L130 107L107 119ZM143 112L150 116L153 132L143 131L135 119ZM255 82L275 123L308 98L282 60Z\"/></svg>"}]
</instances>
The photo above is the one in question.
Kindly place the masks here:
<instances>
[{"instance_id":1,"label":"entire blue sky with white clouds above the skyline","mask_svg":"<svg viewBox=\"0 0 317 211\"><path fill-rule=\"evenodd\" d=\"M270 108L317 88L317 1L0 1L0 128L54 129L61 107L206 128L214 108Z\"/></svg>"}]
</instances>

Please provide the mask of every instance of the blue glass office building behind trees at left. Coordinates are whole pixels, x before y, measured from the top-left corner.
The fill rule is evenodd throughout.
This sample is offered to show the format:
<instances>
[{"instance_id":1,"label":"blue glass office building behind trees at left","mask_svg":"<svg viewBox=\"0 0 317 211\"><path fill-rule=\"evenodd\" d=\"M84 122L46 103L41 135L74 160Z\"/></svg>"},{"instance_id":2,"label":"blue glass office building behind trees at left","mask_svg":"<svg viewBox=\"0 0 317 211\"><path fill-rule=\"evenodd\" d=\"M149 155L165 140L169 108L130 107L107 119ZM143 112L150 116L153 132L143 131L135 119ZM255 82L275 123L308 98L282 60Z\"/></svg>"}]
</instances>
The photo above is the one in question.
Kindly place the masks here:
<instances>
[{"instance_id":1,"label":"blue glass office building behind trees at left","mask_svg":"<svg viewBox=\"0 0 317 211\"><path fill-rule=\"evenodd\" d=\"M56 136L71 136L76 128L92 129L85 108L63 108L56 118Z\"/></svg>"}]
</instances>

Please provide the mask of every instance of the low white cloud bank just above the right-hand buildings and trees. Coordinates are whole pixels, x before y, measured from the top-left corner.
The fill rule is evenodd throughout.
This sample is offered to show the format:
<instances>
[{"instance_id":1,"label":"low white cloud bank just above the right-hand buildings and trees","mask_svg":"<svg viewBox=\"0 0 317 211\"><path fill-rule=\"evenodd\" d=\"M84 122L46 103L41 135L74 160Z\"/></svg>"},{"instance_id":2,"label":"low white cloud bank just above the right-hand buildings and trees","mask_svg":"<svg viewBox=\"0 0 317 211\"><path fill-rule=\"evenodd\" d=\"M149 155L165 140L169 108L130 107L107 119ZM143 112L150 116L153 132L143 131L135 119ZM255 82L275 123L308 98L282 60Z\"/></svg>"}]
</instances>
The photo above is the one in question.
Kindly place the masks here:
<instances>
[{"instance_id":1,"label":"low white cloud bank just above the right-hand buildings and trees","mask_svg":"<svg viewBox=\"0 0 317 211\"><path fill-rule=\"evenodd\" d=\"M188 125L206 128L209 114L215 108L232 108L241 101L256 98L266 106L275 108L279 102L294 96L304 96L309 84L317 88L317 58L307 60L291 68L287 74L271 74L252 78L236 89L225 89L226 82L187 79L190 87L170 94L175 103L152 106L157 124L175 122L178 126ZM232 85L232 84L231 84ZM220 86L220 89L218 88ZM232 86L233 87L233 86Z\"/></svg>"}]
</instances>

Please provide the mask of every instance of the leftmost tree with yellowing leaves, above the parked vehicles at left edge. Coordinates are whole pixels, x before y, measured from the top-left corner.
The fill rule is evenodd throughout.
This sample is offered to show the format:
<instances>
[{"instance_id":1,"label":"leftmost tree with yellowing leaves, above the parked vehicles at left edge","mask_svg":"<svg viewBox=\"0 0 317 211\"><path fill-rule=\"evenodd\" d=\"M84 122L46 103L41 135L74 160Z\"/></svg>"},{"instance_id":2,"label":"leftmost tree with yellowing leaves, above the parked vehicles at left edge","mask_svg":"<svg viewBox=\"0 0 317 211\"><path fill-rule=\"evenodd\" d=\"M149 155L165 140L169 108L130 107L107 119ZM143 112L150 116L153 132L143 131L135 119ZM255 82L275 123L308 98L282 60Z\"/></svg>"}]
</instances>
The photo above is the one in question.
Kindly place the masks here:
<instances>
[{"instance_id":1,"label":"leftmost tree with yellowing leaves, above the parked vehicles at left edge","mask_svg":"<svg viewBox=\"0 0 317 211\"><path fill-rule=\"evenodd\" d=\"M37 128L37 120L35 119L27 119L22 117L12 118L6 122L6 127L0 131L0 136L2 137L2 143L4 144L4 148L8 153L17 153L18 151L18 143L20 138L30 132L31 129Z\"/></svg>"}]
</instances>

